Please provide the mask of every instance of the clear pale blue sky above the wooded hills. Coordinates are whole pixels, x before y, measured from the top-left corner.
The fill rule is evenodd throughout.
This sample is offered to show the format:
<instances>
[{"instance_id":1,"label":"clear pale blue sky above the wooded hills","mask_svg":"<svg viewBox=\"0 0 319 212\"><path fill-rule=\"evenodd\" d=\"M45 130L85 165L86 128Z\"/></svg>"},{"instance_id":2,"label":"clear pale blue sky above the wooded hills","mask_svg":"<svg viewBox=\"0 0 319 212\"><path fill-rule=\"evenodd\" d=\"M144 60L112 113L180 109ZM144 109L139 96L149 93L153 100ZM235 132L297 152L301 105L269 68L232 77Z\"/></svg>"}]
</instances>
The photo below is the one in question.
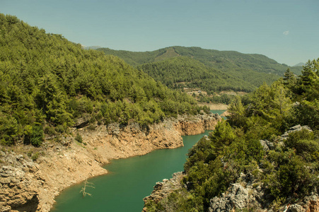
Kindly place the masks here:
<instances>
[{"instance_id":1,"label":"clear pale blue sky above the wooded hills","mask_svg":"<svg viewBox=\"0 0 319 212\"><path fill-rule=\"evenodd\" d=\"M196 46L288 65L319 57L319 0L0 0L0 12L85 46Z\"/></svg>"}]
</instances>

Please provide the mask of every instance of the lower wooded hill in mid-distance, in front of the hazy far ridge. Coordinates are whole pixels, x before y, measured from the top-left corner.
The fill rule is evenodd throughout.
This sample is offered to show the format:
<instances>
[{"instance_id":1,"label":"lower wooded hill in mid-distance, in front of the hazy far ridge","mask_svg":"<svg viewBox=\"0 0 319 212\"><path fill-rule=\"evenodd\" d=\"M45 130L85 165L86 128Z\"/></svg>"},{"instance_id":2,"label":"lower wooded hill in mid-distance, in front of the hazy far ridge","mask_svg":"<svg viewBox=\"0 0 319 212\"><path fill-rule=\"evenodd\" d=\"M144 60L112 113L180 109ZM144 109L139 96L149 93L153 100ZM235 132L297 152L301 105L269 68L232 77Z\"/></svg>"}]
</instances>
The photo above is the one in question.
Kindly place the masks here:
<instances>
[{"instance_id":1,"label":"lower wooded hill in mid-distance, in front of the hazy far ridge","mask_svg":"<svg viewBox=\"0 0 319 212\"><path fill-rule=\"evenodd\" d=\"M251 92L255 86L205 66L190 57L174 57L137 66L169 88L200 88L211 93L221 90Z\"/></svg>"}]
</instances>

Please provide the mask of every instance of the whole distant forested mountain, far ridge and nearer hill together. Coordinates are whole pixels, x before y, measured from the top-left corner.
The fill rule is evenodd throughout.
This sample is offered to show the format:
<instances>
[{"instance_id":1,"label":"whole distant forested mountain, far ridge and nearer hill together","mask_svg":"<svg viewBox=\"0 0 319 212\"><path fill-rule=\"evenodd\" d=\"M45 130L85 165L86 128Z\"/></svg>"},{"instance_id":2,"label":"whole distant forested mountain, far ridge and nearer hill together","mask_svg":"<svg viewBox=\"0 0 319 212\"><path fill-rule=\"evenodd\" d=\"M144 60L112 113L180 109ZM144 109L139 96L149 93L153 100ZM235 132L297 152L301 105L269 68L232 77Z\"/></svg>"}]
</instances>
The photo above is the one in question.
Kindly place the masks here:
<instances>
[{"instance_id":1,"label":"whole distant forested mountain, far ridge and nearer hill together","mask_svg":"<svg viewBox=\"0 0 319 212\"><path fill-rule=\"evenodd\" d=\"M109 48L98 50L105 54L120 57L128 64L137 66L149 73L158 81L175 88L180 88L180 86L173 85L170 82L178 83L182 76L187 79L185 82L188 86L197 84L198 88L202 90L216 91L228 88L226 90L249 91L257 88L263 82L270 84L280 76L284 76L286 69L290 69L297 75L301 74L302 70L301 66L291 67L279 64L262 54L243 54L234 51L202 49L200 47L166 47L153 52L129 52ZM175 59L176 57L184 57L184 59L178 60ZM190 58L192 61L187 61L185 58ZM173 62L176 64L172 64ZM188 66L190 63L192 64L192 72L190 72L190 66ZM180 72L182 68L185 68L185 73L192 74L186 77L185 73ZM207 79L205 83L199 78L192 77L194 75L199 76L204 69L214 76L222 77L219 78L219 81L215 77L214 85L204 86L212 82L210 74L204 75ZM172 74L174 71L179 74ZM197 71L198 73L196 73ZM169 79L170 76L171 79Z\"/></svg>"}]
</instances>

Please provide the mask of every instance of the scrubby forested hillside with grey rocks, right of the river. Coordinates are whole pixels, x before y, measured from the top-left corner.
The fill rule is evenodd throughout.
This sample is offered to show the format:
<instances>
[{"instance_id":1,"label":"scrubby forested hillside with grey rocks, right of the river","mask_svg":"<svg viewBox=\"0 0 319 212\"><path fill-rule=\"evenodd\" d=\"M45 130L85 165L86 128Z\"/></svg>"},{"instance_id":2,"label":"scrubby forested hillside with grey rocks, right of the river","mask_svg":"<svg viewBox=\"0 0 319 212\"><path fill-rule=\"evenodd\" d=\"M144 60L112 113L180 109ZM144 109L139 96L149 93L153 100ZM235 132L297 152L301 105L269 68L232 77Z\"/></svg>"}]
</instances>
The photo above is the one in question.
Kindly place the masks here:
<instances>
[{"instance_id":1,"label":"scrubby forested hillside with grey rocks, right of the river","mask_svg":"<svg viewBox=\"0 0 319 212\"><path fill-rule=\"evenodd\" d=\"M286 71L272 86L237 96L228 119L190 149L183 188L146 202L148 211L278 211L306 205L306 196L318 199L318 99L319 59L298 78Z\"/></svg>"}]
</instances>

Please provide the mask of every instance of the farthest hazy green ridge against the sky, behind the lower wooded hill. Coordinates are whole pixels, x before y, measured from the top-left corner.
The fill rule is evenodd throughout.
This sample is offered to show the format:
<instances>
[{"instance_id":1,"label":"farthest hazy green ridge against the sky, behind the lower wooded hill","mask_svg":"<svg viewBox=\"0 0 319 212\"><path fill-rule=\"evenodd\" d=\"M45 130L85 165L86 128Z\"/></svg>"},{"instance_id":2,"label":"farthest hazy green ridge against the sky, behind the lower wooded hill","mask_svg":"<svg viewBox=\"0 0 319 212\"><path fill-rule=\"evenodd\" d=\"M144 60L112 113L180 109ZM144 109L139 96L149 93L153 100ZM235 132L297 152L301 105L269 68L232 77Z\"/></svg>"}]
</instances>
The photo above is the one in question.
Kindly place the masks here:
<instances>
[{"instance_id":1,"label":"farthest hazy green ridge against the sky, behind the lower wooded hill","mask_svg":"<svg viewBox=\"0 0 319 212\"><path fill-rule=\"evenodd\" d=\"M239 81L245 81L249 86L260 86L263 82L272 83L279 76L284 76L286 69L295 74L300 74L302 67L289 67L279 64L261 54L243 54L240 52L218 51L213 49L202 49L199 47L167 47L153 52L129 52L116 51L101 48L105 54L116 55L133 66L163 61L173 57L190 57L207 66L207 69L218 70ZM148 71L148 70L144 70ZM229 81L228 83L232 83ZM235 84L236 86L241 86Z\"/></svg>"}]
</instances>

